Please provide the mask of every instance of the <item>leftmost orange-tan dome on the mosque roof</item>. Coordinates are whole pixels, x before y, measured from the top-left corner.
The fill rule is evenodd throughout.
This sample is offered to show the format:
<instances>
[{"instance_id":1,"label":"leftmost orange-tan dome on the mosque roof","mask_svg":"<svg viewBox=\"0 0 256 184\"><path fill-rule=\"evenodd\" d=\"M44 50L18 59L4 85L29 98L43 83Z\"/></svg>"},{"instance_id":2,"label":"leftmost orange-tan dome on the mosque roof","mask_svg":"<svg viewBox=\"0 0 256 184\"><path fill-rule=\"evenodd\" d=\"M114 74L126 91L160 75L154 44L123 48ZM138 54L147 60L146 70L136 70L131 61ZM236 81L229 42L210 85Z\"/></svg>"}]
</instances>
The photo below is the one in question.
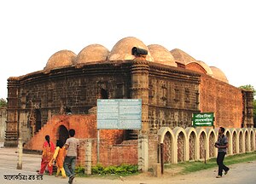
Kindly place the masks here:
<instances>
[{"instance_id":1,"label":"leftmost orange-tan dome on the mosque roof","mask_svg":"<svg viewBox=\"0 0 256 184\"><path fill-rule=\"evenodd\" d=\"M52 70L57 67L71 66L77 55L70 50L61 50L51 55L44 70Z\"/></svg>"}]
</instances>

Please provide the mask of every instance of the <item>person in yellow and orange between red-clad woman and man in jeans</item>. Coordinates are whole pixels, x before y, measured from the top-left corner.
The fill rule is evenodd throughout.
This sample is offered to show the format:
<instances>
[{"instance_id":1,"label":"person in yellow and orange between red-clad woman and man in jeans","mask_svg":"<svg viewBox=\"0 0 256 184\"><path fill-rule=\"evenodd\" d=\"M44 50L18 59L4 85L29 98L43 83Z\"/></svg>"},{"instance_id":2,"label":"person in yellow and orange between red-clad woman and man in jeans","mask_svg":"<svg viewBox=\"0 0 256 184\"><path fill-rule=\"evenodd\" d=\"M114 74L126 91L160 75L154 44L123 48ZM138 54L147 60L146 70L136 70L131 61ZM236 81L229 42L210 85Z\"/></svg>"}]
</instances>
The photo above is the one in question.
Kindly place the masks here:
<instances>
[{"instance_id":1,"label":"person in yellow and orange between red-clad woman and man in jeans","mask_svg":"<svg viewBox=\"0 0 256 184\"><path fill-rule=\"evenodd\" d=\"M64 163L64 158L66 156L66 152L67 152L67 150L65 147L63 147L63 142L61 140L57 140L55 154L50 161L50 163L53 164L54 161L56 160L56 166L57 166L57 173L55 175L56 177L59 176L60 171L61 171L62 178L67 177L66 172L63 168L63 163Z\"/></svg>"}]
</instances>

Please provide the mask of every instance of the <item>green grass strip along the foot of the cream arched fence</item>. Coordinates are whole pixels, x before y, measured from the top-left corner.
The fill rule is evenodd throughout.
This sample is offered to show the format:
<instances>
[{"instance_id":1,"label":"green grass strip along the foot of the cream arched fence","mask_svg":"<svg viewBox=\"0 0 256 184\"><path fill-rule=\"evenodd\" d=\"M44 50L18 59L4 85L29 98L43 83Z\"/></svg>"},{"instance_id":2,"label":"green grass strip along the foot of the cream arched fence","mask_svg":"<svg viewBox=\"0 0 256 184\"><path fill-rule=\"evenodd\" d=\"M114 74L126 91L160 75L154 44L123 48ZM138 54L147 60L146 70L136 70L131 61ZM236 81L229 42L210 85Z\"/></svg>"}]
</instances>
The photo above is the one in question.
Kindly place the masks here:
<instances>
[{"instance_id":1,"label":"green grass strip along the foot of the cream arched fence","mask_svg":"<svg viewBox=\"0 0 256 184\"><path fill-rule=\"evenodd\" d=\"M247 152L243 154L231 155L224 158L224 164L239 164L256 160L256 152ZM177 174L187 174L190 172L195 172L198 170L207 170L214 167L217 167L216 158L211 158L207 160L205 164L204 161L195 161L195 162L183 162L178 164L166 165L165 169L181 169Z\"/></svg>"}]
</instances>

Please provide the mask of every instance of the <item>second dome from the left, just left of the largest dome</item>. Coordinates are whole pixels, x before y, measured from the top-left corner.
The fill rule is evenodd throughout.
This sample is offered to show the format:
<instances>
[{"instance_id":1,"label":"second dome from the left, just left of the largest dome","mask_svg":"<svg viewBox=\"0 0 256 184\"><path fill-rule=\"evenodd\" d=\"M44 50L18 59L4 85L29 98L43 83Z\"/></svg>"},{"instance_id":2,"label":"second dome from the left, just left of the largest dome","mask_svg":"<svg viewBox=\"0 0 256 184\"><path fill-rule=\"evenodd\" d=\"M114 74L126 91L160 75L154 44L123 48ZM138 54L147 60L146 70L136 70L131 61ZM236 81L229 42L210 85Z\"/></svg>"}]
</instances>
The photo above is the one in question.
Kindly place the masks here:
<instances>
[{"instance_id":1,"label":"second dome from the left, just left of the largest dome","mask_svg":"<svg viewBox=\"0 0 256 184\"><path fill-rule=\"evenodd\" d=\"M106 61L108 59L109 50L101 44L90 44L79 52L75 64Z\"/></svg>"}]
</instances>

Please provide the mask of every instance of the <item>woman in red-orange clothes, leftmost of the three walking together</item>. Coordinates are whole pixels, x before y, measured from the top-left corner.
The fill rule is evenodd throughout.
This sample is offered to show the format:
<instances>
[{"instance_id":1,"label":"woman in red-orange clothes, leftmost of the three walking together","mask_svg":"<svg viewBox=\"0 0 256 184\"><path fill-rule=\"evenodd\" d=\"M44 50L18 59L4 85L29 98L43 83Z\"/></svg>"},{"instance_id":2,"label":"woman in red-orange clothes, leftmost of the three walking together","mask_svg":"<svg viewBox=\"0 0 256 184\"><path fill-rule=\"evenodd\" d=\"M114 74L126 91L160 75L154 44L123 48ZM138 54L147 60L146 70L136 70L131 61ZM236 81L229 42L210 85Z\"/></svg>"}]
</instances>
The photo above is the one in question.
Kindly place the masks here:
<instances>
[{"instance_id":1,"label":"woman in red-orange clothes, leftmost of the three walking together","mask_svg":"<svg viewBox=\"0 0 256 184\"><path fill-rule=\"evenodd\" d=\"M42 154L41 169L39 171L39 175L44 174L44 170L46 166L48 167L49 175L52 175L53 165L50 164L50 160L53 157L54 152L55 152L55 145L52 141L49 141L49 135L46 135L44 145L43 145L43 154Z\"/></svg>"}]
</instances>

